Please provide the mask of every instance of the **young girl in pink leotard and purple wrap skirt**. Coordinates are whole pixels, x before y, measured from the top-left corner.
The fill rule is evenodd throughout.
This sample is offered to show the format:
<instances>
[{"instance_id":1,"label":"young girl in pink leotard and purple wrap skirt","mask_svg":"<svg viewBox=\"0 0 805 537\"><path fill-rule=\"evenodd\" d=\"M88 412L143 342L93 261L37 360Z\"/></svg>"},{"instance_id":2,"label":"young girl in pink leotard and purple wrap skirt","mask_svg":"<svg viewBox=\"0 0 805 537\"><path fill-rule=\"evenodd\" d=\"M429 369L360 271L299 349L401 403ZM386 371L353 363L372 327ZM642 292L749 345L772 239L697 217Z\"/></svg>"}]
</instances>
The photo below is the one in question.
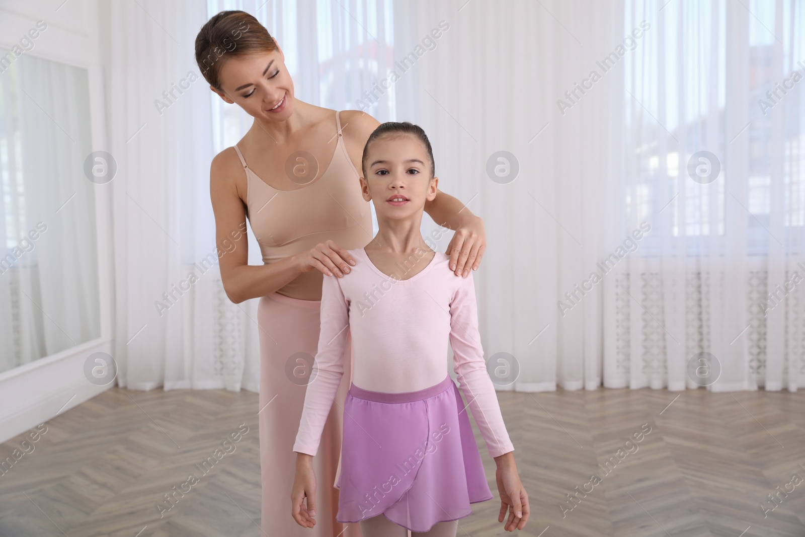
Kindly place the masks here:
<instances>
[{"instance_id":1,"label":"young girl in pink leotard and purple wrap skirt","mask_svg":"<svg viewBox=\"0 0 805 537\"><path fill-rule=\"evenodd\" d=\"M353 382L344 405L340 523L361 523L364 537L455 537L470 504L493 498L466 408L497 463L506 531L522 529L528 495L514 464L478 333L473 275L456 277L448 256L425 244L419 226L437 193L433 151L411 123L388 122L369 136L361 190L372 200L378 234L348 274L324 278L320 338L294 451L291 514L316 524L316 455L344 373L348 332ZM447 371L448 339L458 387ZM304 499L307 498L307 506Z\"/></svg>"}]
</instances>

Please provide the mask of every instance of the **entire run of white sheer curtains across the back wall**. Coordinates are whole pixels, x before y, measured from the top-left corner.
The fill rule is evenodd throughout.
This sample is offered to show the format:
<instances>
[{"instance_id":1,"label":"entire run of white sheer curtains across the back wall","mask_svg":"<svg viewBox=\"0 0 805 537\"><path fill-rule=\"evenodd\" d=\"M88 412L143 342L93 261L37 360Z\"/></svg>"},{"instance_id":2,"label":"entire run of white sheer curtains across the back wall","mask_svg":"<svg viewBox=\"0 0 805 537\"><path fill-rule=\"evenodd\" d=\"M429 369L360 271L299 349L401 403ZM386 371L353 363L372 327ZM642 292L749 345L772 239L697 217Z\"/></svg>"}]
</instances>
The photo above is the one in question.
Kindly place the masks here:
<instances>
[{"instance_id":1,"label":"entire run of white sheer curtains across the back wall","mask_svg":"<svg viewBox=\"0 0 805 537\"><path fill-rule=\"evenodd\" d=\"M758 105L805 72L796 2L103 6L122 386L257 390L256 300L229 303L207 264L208 163L251 118L211 101L192 60L209 16L243 9L279 40L299 98L427 131L440 188L485 219L485 356L518 369L500 389L683 390L706 383L688 371L702 352L720 366L708 389L797 388L805 86ZM698 151L716 180L698 159L688 173ZM452 233L426 220L444 250Z\"/></svg>"}]
</instances>

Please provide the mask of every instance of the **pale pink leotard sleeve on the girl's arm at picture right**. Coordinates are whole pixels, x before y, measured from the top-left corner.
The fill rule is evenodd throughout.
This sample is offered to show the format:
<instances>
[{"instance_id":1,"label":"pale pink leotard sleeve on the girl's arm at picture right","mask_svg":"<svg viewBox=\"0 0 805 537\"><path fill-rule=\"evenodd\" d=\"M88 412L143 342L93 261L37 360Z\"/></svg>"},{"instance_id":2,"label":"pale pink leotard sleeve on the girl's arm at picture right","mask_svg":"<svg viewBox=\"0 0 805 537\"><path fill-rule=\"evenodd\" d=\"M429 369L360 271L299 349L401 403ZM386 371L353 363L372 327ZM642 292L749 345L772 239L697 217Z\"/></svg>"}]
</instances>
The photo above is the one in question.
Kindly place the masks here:
<instances>
[{"instance_id":1,"label":"pale pink leotard sleeve on the girl's arm at picture right","mask_svg":"<svg viewBox=\"0 0 805 537\"><path fill-rule=\"evenodd\" d=\"M492 379L486 372L484 349L478 332L473 271L466 278L461 278L450 303L450 345L453 349L453 370L458 375L459 387L484 437L489 456L494 458L514 451Z\"/></svg>"}]
</instances>

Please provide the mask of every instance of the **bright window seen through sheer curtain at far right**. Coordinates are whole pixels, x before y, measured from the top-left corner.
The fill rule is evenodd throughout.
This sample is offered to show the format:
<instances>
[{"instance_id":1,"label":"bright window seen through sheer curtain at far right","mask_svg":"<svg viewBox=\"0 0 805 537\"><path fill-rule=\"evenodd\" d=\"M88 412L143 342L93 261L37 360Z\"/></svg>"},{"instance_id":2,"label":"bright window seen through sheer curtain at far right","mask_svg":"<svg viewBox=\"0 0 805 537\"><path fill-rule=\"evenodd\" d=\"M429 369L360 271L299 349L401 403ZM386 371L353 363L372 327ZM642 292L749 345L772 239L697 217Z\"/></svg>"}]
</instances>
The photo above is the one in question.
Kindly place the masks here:
<instances>
[{"instance_id":1,"label":"bright window seen through sheer curtain at far right","mask_svg":"<svg viewBox=\"0 0 805 537\"><path fill-rule=\"evenodd\" d=\"M765 255L770 241L786 244L791 233L801 237L805 225L805 43L794 31L805 25L803 10L791 0L782 2L782 31L775 33L775 2L663 3L661 11L644 2L625 6L625 33L642 20L650 24L638 47L625 54L626 208L637 221L658 221L658 213L670 211L671 236L684 234L688 254L696 255L701 241L711 242L716 233L716 242L724 244L733 233L725 206L738 204L746 217L746 252ZM728 10L743 10L741 16L748 18L745 50L727 51ZM738 68L745 64L745 86L728 87L728 60ZM731 98L744 94L741 105ZM773 124L770 110L782 103L784 121ZM745 130L727 132L726 119L736 106L748 107L743 110L748 124ZM698 151L709 151L716 162ZM745 167L745 199L734 196L730 186L740 174L729 169L724 155L735 151L741 151ZM720 174L709 180L708 170L716 165ZM691 180L691 166L704 173L698 181ZM782 175L784 200L772 199L775 170ZM679 204L684 221L679 221ZM784 211L785 237L773 237L769 229L770 214L779 210ZM648 253L659 252L658 237L646 242Z\"/></svg>"}]
</instances>

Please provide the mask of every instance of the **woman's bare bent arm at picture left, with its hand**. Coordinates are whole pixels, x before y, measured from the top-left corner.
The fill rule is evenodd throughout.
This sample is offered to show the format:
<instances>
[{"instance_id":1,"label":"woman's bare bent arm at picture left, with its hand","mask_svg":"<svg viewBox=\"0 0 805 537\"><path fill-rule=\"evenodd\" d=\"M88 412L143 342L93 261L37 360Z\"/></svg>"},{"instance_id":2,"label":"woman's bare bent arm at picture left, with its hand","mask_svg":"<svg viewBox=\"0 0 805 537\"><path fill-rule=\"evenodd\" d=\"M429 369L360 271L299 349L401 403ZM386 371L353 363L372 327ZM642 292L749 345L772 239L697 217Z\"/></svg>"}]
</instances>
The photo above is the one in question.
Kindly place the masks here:
<instances>
[{"instance_id":1,"label":"woman's bare bent arm at picture left, with its hand","mask_svg":"<svg viewBox=\"0 0 805 537\"><path fill-rule=\"evenodd\" d=\"M221 282L233 303L240 304L244 300L270 295L285 287L302 272L313 269L319 269L326 275L335 273L337 276L343 275L342 271L349 272L346 262L354 265L354 258L332 241L268 265L249 265L246 206L238 195L237 184L232 178L233 172L242 173L243 167L234 150L230 151L232 155L227 155L227 152L221 151L213 159L209 183ZM336 263L341 271L336 268Z\"/></svg>"}]
</instances>

